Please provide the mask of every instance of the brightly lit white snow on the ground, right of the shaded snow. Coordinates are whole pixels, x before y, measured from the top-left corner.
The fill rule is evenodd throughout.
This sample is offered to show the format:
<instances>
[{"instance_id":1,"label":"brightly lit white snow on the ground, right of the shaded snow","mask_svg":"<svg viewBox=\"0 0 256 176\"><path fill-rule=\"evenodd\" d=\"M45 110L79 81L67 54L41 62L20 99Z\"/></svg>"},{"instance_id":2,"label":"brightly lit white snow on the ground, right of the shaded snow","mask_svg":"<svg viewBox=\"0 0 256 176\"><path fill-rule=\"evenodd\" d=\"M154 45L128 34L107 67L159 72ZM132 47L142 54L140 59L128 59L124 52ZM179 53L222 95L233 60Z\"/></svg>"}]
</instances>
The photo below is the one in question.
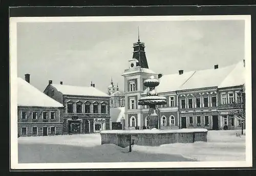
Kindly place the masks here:
<instances>
[{"instance_id":1,"label":"brightly lit white snow on the ground, right of the shaded snow","mask_svg":"<svg viewBox=\"0 0 256 176\"><path fill-rule=\"evenodd\" d=\"M180 153L197 161L245 161L245 136L241 130L210 130L207 142L165 144L159 147L134 146L134 151L147 153Z\"/></svg>"}]
</instances>

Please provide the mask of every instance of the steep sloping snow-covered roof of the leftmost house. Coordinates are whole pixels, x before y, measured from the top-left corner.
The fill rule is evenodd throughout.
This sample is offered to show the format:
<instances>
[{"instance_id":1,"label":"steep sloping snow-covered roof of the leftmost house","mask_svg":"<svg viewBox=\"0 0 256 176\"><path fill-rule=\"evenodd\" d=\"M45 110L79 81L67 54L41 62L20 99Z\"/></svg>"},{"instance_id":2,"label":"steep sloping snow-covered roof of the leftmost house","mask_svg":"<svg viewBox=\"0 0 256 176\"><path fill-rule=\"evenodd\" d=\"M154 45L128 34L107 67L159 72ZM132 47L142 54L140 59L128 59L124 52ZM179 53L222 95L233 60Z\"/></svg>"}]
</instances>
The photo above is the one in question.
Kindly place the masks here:
<instances>
[{"instance_id":1,"label":"steep sloping snow-covered roof of the leftmost house","mask_svg":"<svg viewBox=\"0 0 256 176\"><path fill-rule=\"evenodd\" d=\"M18 106L63 107L22 78L18 80Z\"/></svg>"}]
</instances>

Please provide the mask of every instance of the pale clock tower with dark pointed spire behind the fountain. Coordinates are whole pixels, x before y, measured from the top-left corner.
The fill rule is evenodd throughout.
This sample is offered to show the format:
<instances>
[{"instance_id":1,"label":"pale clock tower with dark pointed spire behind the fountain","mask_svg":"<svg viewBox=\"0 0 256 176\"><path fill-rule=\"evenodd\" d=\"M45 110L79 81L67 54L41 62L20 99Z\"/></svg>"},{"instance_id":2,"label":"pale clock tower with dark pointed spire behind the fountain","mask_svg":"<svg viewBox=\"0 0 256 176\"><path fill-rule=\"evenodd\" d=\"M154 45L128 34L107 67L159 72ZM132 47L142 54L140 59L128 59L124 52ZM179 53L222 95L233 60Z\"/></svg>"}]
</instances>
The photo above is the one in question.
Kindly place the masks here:
<instances>
[{"instance_id":1,"label":"pale clock tower with dark pointed spire behind the fountain","mask_svg":"<svg viewBox=\"0 0 256 176\"><path fill-rule=\"evenodd\" d=\"M135 129L135 127L142 129L145 126L148 111L146 112L141 105L138 105L138 99L146 89L143 81L150 76L157 77L157 74L148 69L145 45L140 41L139 33L138 41L133 43L133 48L133 58L128 60L129 67L122 74L124 77L125 129Z\"/></svg>"}]
</instances>

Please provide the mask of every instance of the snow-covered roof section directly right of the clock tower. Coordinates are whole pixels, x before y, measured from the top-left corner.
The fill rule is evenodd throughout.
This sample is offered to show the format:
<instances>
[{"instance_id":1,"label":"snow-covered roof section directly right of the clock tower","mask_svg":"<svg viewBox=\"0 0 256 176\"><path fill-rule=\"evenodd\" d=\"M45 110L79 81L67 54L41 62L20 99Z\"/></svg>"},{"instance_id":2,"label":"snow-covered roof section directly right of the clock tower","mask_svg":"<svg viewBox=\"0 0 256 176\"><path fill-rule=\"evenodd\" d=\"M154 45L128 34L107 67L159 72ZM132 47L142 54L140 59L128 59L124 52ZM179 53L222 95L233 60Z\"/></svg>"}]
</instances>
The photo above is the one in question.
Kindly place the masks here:
<instances>
[{"instance_id":1,"label":"snow-covered roof section directly right of the clock tower","mask_svg":"<svg viewBox=\"0 0 256 176\"><path fill-rule=\"evenodd\" d=\"M163 92L173 92L179 90L179 87L186 82L195 71L184 72L183 74L170 74L170 75L163 75L159 81L160 84L156 87L156 91L158 93ZM144 93L146 93L145 90Z\"/></svg>"}]
</instances>

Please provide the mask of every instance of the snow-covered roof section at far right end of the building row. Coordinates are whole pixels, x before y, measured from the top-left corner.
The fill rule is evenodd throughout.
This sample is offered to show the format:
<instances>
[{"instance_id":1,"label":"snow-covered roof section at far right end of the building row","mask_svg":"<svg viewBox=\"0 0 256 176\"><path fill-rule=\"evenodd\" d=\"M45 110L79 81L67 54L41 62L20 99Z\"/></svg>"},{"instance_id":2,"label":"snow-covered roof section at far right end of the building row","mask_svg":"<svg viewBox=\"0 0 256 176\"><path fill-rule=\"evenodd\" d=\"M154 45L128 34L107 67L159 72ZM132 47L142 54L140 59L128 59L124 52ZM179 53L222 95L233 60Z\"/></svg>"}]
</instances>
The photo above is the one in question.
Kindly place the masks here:
<instances>
[{"instance_id":1,"label":"snow-covered roof section at far right end of the building row","mask_svg":"<svg viewBox=\"0 0 256 176\"><path fill-rule=\"evenodd\" d=\"M245 67L243 61L238 62L233 70L226 76L226 78L218 86L231 87L237 85L243 85L245 83Z\"/></svg>"}]
</instances>

